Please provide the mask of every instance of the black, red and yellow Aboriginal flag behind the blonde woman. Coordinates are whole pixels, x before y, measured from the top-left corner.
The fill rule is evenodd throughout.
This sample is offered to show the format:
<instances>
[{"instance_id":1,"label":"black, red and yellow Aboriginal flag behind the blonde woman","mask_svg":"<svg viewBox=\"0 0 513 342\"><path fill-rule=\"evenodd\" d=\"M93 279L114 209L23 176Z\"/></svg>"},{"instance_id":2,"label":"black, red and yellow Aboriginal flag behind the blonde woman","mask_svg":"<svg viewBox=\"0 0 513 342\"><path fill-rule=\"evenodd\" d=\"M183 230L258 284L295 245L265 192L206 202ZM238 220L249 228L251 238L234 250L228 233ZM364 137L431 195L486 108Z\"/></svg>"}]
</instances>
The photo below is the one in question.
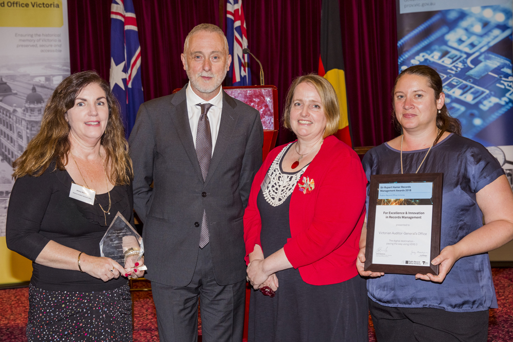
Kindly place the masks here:
<instances>
[{"instance_id":1,"label":"black, red and yellow Aboriginal flag behind the blonde woman","mask_svg":"<svg viewBox=\"0 0 513 342\"><path fill-rule=\"evenodd\" d=\"M344 57L342 56L339 0L322 1L319 76L323 76L331 83L339 98L340 121L339 130L335 133L335 136L352 147L344 76Z\"/></svg>"}]
</instances>

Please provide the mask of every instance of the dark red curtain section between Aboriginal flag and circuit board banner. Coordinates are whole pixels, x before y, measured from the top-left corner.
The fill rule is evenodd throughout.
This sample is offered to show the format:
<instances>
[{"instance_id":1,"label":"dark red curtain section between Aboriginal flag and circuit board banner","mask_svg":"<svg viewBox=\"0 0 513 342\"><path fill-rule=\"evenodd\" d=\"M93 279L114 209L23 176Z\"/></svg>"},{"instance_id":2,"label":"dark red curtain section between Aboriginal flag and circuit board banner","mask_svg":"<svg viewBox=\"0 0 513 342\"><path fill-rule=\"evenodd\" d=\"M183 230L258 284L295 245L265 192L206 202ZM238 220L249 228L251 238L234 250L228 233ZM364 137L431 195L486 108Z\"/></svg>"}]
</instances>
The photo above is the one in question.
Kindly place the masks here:
<instances>
[{"instance_id":1,"label":"dark red curtain section between Aboriginal flag and circuit board banner","mask_svg":"<svg viewBox=\"0 0 513 342\"><path fill-rule=\"evenodd\" d=\"M398 135L391 116L396 0L342 0L340 19L353 144L377 146Z\"/></svg>"}]
</instances>

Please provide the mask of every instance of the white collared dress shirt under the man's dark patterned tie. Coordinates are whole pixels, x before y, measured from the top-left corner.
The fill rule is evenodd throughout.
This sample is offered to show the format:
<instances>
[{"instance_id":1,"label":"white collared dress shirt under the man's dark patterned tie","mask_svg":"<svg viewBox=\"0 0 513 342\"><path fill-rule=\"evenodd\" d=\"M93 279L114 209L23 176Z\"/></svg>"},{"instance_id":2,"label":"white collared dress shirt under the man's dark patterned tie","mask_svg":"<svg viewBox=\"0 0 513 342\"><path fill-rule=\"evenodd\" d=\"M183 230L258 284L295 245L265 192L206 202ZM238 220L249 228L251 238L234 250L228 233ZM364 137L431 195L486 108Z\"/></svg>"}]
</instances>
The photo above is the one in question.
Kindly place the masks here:
<instances>
[{"instance_id":1,"label":"white collared dress shirt under the man's dark patterned tie","mask_svg":"<svg viewBox=\"0 0 513 342\"><path fill-rule=\"evenodd\" d=\"M189 124L191 125L192 140L194 148L196 147L196 133L198 132L198 122L201 115L201 107L197 104L209 103L213 106L207 112L207 117L210 122L210 134L212 135L212 154L214 153L215 142L218 139L219 125L221 124L221 112L223 111L223 87L219 89L219 93L209 101L205 101L192 90L191 83L185 90L187 98L187 112L189 114Z\"/></svg>"}]
</instances>

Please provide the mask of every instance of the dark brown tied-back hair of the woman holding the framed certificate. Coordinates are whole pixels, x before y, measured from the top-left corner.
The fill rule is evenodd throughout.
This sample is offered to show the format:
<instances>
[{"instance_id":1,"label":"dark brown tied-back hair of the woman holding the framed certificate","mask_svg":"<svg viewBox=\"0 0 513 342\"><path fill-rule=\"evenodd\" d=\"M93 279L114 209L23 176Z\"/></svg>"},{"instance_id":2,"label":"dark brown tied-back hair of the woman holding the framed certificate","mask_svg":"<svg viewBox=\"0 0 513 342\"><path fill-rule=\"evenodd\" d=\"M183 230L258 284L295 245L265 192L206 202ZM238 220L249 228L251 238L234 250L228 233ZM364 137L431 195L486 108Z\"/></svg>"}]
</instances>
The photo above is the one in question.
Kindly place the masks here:
<instances>
[{"instance_id":1,"label":"dark brown tied-back hair of the woman holding the framed certificate","mask_svg":"<svg viewBox=\"0 0 513 342\"><path fill-rule=\"evenodd\" d=\"M414 65L407 69L404 69L399 74L399 76L397 76L396 82L393 84L392 89L392 104L393 94L396 92L397 83L399 82L399 79L404 75L417 75L426 78L429 87L435 91L435 101L440 98L440 94L444 91L442 78L435 69L432 69L427 65ZM396 125L396 128L400 131L401 125L397 120L395 108L392 112L392 118L394 124ZM449 110L445 106L445 103L444 106L440 109L440 113L437 113L437 127L440 130L440 132L438 133L437 139L435 140L435 144L438 143L438 140L440 140L444 132L450 132L461 135L460 120L458 120L456 117L450 116Z\"/></svg>"}]
</instances>

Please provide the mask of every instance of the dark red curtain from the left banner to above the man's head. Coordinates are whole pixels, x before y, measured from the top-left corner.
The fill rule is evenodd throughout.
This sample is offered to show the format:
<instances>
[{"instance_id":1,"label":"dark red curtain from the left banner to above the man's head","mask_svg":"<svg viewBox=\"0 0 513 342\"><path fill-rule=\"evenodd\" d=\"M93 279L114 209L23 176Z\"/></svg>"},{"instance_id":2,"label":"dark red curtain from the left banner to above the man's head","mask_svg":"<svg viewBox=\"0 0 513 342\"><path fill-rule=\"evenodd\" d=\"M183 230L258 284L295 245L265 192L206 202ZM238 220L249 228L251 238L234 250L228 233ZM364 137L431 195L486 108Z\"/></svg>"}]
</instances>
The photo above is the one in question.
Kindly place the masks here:
<instances>
[{"instance_id":1,"label":"dark red curtain from the left banner to above the man's head","mask_svg":"<svg viewBox=\"0 0 513 342\"><path fill-rule=\"evenodd\" d=\"M94 69L105 79L110 70L112 0L68 1L71 72ZM144 99L169 95L187 83L180 54L196 25L219 25L218 1L133 0Z\"/></svg>"}]
</instances>

